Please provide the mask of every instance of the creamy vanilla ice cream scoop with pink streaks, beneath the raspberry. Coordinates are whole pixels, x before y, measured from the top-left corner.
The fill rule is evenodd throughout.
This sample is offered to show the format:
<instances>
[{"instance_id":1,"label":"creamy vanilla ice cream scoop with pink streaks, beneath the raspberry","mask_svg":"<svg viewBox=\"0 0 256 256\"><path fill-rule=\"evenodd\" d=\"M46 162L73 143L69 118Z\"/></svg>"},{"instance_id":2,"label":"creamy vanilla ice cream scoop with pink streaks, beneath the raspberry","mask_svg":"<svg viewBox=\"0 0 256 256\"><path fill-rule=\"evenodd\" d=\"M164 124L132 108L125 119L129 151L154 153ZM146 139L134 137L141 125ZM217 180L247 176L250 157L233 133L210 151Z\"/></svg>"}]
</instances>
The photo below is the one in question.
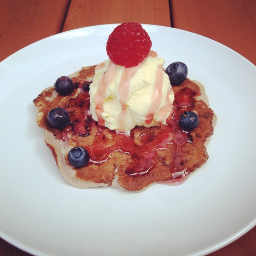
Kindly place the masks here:
<instances>
[{"instance_id":1,"label":"creamy vanilla ice cream scoop with pink streaks, beneath the raspberry","mask_svg":"<svg viewBox=\"0 0 256 256\"><path fill-rule=\"evenodd\" d=\"M136 67L125 68L110 59L99 64L89 91L93 119L127 134L136 125L166 124L174 93L163 64L154 51Z\"/></svg>"}]
</instances>

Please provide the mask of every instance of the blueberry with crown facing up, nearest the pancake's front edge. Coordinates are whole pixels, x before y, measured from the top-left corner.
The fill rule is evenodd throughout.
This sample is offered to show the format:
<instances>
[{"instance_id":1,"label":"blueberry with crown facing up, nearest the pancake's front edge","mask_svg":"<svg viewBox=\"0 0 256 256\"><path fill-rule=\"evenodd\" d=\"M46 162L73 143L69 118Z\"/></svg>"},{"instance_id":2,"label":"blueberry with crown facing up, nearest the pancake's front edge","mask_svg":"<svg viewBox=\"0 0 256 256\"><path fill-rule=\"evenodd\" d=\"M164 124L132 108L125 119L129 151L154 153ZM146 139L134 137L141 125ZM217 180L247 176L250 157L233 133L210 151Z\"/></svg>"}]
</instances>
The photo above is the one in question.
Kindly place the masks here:
<instances>
[{"instance_id":1,"label":"blueberry with crown facing up, nearest the pancake's front edge","mask_svg":"<svg viewBox=\"0 0 256 256\"><path fill-rule=\"evenodd\" d=\"M75 147L68 152L67 157L71 165L75 167L82 167L87 165L89 160L89 153L84 148Z\"/></svg>"}]
</instances>

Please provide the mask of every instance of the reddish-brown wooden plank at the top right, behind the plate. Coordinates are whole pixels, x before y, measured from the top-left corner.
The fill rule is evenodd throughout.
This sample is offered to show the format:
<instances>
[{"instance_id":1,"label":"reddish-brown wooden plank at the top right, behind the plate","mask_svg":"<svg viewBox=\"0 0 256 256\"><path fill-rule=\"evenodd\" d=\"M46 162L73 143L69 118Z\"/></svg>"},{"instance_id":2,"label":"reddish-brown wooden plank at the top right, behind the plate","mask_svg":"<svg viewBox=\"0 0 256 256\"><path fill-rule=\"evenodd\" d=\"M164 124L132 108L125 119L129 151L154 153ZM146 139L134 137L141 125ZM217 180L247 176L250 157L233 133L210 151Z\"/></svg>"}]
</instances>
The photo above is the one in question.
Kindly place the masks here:
<instances>
[{"instance_id":1,"label":"reddish-brown wooden plank at the top right, behind the plate","mask_svg":"<svg viewBox=\"0 0 256 256\"><path fill-rule=\"evenodd\" d=\"M172 26L204 35L256 64L255 0L171 0Z\"/></svg>"}]
</instances>

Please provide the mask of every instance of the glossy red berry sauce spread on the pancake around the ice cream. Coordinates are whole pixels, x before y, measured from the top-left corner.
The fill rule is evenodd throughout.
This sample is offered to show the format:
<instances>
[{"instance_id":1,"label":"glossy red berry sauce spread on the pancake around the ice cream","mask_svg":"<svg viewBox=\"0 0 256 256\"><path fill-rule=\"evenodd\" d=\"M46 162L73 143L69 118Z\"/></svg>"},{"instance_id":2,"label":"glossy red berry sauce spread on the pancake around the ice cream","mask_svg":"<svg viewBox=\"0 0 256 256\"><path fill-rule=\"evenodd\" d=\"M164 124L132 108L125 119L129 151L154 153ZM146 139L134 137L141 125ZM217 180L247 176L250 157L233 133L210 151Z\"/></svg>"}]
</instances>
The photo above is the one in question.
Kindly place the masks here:
<instances>
[{"instance_id":1,"label":"glossy red berry sauce spread on the pancake around the ice cream","mask_svg":"<svg viewBox=\"0 0 256 256\"><path fill-rule=\"evenodd\" d=\"M122 154L129 154L132 157L133 163L126 170L128 175L145 175L150 172L151 168L156 164L156 154L158 150L167 148L168 144L175 147L174 150L174 163L172 163L172 169L176 173L178 179L185 172L182 166L182 160L180 156L180 149L185 143L192 143L192 138L188 132L184 132L178 125L179 116L183 113L182 108L193 108L195 104L195 96L198 95L192 89L184 88L175 95L175 101L173 103L173 113L166 120L167 125L161 125L159 132L152 132L152 128L145 128L145 133L139 133L140 143L136 143L138 140L138 130L136 128L131 130L130 136L127 134L116 133L94 121L90 114L90 96L88 90L83 90L82 85L81 93L75 99L71 99L67 106L67 111L70 113L71 119L71 131L73 134L78 134L81 137L90 136L90 131L93 128L97 128L98 132L94 138L93 145L86 147L90 154L90 160L88 164L97 164L108 160L108 157L115 151L120 151ZM149 117L150 119L150 117ZM115 136L115 142L105 137L105 129L108 129L108 133ZM63 134L67 134L70 131L70 127L65 128ZM67 136L63 136L67 140ZM81 146L81 145L80 145ZM189 173L189 170L186 170ZM174 173L173 173L174 174Z\"/></svg>"}]
</instances>

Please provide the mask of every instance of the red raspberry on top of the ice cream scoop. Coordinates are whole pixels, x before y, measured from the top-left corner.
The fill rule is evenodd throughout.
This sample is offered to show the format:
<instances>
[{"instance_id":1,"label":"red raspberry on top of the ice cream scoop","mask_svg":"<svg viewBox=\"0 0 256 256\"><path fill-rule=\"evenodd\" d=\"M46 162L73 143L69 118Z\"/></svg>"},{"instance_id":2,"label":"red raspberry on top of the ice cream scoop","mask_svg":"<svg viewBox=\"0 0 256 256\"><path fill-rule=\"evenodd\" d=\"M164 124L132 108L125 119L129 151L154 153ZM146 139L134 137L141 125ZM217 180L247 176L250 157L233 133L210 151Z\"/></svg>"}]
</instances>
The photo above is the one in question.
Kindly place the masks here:
<instances>
[{"instance_id":1,"label":"red raspberry on top of the ice cream scoop","mask_svg":"<svg viewBox=\"0 0 256 256\"><path fill-rule=\"evenodd\" d=\"M109 35L106 49L115 64L134 67L148 56L151 45L148 33L139 23L125 22Z\"/></svg>"}]
</instances>

